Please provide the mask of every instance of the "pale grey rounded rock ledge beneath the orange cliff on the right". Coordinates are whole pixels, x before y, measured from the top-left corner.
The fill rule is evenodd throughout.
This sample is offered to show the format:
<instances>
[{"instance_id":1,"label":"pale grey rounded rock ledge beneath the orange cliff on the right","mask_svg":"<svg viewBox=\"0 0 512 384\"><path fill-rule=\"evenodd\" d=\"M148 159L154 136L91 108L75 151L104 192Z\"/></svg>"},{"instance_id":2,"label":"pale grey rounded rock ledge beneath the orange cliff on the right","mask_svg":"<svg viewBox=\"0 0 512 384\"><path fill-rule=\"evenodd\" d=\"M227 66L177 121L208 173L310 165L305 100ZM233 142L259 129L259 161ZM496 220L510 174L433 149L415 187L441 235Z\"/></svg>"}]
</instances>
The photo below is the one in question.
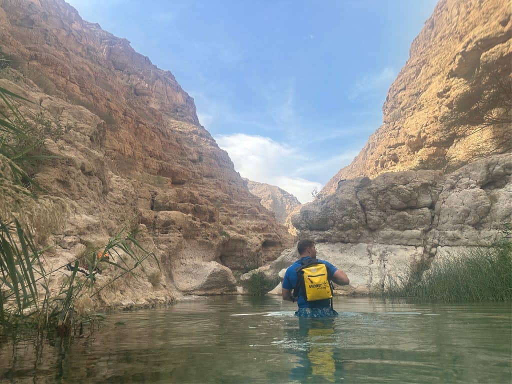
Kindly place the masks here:
<instances>
[{"instance_id":1,"label":"pale grey rounded rock ledge beneath the orange cliff on the right","mask_svg":"<svg viewBox=\"0 0 512 384\"><path fill-rule=\"evenodd\" d=\"M491 244L511 217L512 154L501 154L447 175L420 169L343 181L291 221L299 239L317 242L319 258L347 273L342 290L367 293L451 250Z\"/></svg>"}]
</instances>

